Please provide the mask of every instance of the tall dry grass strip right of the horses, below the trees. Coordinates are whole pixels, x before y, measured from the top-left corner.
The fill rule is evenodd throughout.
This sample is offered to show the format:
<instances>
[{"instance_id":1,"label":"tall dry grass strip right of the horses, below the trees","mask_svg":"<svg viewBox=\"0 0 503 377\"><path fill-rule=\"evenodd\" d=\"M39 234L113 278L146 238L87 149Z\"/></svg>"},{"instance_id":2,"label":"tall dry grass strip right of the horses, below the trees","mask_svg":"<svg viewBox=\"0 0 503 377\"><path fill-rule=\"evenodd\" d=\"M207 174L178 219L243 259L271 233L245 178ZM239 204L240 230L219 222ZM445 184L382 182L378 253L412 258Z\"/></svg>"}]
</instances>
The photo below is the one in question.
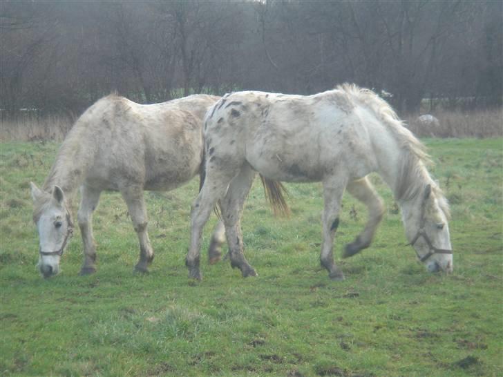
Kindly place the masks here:
<instances>
[{"instance_id":1,"label":"tall dry grass strip right of the horses, below the trees","mask_svg":"<svg viewBox=\"0 0 503 377\"><path fill-rule=\"evenodd\" d=\"M503 108L471 112L439 110L431 113L439 124L417 121L418 115L406 117L407 128L418 137L500 137L503 135Z\"/></svg>"}]
</instances>

